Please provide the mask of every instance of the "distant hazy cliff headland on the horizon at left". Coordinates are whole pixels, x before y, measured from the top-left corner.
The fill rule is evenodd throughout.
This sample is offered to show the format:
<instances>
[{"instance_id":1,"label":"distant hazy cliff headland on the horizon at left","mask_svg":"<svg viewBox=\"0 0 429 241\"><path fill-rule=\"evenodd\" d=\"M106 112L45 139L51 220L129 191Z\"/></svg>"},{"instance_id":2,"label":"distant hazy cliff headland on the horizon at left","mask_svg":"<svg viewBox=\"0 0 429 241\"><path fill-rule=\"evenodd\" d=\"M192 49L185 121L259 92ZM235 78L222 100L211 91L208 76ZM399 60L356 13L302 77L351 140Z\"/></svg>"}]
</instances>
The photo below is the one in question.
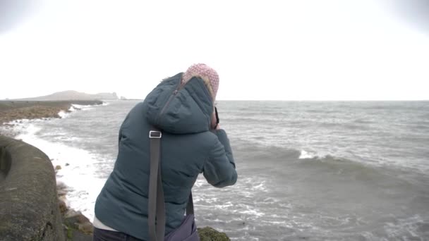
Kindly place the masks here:
<instances>
[{"instance_id":1,"label":"distant hazy cliff headland on the horizon at left","mask_svg":"<svg viewBox=\"0 0 429 241\"><path fill-rule=\"evenodd\" d=\"M116 92L113 93L98 93L98 94L86 94L83 92L77 92L74 90L66 90L62 92L55 92L54 94L45 95L43 97L25 98L20 100L28 101L53 101L53 100L93 100L93 99L119 99Z\"/></svg>"}]
</instances>

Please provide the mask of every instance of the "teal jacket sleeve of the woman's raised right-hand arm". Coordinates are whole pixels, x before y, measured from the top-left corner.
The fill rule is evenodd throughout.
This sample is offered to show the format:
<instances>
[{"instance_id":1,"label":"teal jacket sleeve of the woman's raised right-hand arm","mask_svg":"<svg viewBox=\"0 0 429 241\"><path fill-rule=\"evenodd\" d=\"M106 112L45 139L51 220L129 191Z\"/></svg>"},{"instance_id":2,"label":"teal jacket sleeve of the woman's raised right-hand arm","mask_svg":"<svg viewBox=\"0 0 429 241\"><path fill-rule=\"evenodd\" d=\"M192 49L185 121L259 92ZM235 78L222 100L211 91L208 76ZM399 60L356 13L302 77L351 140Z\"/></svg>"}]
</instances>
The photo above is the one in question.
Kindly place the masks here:
<instances>
[{"instance_id":1,"label":"teal jacket sleeve of the woman's raised right-hand arm","mask_svg":"<svg viewBox=\"0 0 429 241\"><path fill-rule=\"evenodd\" d=\"M217 141L210 150L209 159L203 168L203 175L214 187L234 185L237 181L236 164L231 146L224 130L215 131Z\"/></svg>"}]
</instances>

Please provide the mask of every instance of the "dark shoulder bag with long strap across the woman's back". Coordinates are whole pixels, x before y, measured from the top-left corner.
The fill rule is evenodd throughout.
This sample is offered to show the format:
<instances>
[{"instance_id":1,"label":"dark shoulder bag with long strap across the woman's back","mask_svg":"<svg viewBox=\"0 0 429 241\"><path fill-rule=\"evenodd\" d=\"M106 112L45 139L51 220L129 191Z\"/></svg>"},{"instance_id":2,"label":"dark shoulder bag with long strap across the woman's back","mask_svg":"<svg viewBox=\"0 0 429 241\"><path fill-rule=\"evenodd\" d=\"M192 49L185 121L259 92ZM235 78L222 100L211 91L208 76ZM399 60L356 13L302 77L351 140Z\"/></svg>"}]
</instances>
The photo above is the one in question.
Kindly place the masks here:
<instances>
[{"instance_id":1,"label":"dark shoulder bag with long strap across the woman's back","mask_svg":"<svg viewBox=\"0 0 429 241\"><path fill-rule=\"evenodd\" d=\"M183 219L179 228L165 237L165 203L164 190L161 178L161 147L162 132L152 127L149 132L150 138L150 176L149 176L149 203L147 225L149 228L150 241L200 241L195 225L193 214L192 192L189 194L188 206L186 206L186 218ZM156 216L155 216L156 214ZM155 218L157 225L155 227Z\"/></svg>"}]
</instances>

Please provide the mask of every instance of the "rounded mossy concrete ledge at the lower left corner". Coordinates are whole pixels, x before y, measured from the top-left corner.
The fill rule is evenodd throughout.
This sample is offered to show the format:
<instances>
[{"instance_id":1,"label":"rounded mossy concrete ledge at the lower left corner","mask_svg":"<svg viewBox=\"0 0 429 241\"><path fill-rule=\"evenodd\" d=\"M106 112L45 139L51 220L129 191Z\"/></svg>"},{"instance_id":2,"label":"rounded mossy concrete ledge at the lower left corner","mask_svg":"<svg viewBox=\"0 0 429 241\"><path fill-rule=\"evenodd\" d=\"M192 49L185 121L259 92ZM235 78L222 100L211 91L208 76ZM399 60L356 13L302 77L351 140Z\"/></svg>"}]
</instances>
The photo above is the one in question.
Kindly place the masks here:
<instances>
[{"instance_id":1,"label":"rounded mossy concrete ledge at the lower left corner","mask_svg":"<svg viewBox=\"0 0 429 241\"><path fill-rule=\"evenodd\" d=\"M48 156L1 135L0 151L0 240L64 240Z\"/></svg>"}]
</instances>

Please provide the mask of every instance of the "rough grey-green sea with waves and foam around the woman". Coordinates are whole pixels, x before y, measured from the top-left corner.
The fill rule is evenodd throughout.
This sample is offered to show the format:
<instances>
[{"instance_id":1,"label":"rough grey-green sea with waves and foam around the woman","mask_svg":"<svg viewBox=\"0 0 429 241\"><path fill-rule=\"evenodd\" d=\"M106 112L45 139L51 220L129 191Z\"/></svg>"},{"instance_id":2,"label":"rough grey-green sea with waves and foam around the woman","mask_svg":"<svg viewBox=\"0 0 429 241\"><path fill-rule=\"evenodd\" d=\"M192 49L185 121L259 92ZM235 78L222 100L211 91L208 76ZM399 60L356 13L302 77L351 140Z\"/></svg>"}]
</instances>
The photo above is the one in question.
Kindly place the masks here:
<instances>
[{"instance_id":1,"label":"rough grey-green sea with waves and foam around the woman","mask_svg":"<svg viewBox=\"0 0 429 241\"><path fill-rule=\"evenodd\" d=\"M16 122L61 166L73 208L93 218L138 101ZM193 188L199 227L231 240L429 240L429 101L218 101L238 181Z\"/></svg>"}]
</instances>

